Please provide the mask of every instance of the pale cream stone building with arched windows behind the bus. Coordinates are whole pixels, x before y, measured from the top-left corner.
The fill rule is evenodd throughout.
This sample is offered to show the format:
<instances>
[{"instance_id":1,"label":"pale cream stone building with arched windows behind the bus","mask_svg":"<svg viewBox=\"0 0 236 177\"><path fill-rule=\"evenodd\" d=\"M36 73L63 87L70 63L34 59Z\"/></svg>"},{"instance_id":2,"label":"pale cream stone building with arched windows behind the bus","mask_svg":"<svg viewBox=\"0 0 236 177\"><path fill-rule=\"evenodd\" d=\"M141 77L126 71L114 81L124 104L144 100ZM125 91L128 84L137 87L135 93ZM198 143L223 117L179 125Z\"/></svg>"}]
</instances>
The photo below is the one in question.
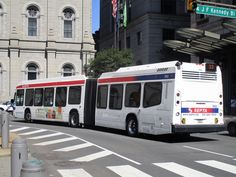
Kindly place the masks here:
<instances>
[{"instance_id":1,"label":"pale cream stone building with arched windows behind the bus","mask_svg":"<svg viewBox=\"0 0 236 177\"><path fill-rule=\"evenodd\" d=\"M0 0L0 102L22 80L83 73L94 45L92 0Z\"/></svg>"}]
</instances>

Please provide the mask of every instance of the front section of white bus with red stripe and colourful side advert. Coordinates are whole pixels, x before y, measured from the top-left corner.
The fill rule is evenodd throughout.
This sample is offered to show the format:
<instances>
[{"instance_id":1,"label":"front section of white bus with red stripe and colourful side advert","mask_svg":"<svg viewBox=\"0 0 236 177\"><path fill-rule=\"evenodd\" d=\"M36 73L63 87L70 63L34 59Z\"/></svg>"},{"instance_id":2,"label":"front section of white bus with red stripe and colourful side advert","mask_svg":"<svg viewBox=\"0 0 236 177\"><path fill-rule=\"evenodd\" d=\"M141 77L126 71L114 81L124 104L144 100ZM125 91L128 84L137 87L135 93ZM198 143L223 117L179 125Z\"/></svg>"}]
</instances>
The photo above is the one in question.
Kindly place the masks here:
<instances>
[{"instance_id":1,"label":"front section of white bus with red stripe and colourful side advert","mask_svg":"<svg viewBox=\"0 0 236 177\"><path fill-rule=\"evenodd\" d=\"M24 81L16 87L14 115L26 121L68 122L73 127L90 125L94 105L88 98L95 97L95 91L89 93L91 83L96 87L96 80L82 75Z\"/></svg>"}]
</instances>

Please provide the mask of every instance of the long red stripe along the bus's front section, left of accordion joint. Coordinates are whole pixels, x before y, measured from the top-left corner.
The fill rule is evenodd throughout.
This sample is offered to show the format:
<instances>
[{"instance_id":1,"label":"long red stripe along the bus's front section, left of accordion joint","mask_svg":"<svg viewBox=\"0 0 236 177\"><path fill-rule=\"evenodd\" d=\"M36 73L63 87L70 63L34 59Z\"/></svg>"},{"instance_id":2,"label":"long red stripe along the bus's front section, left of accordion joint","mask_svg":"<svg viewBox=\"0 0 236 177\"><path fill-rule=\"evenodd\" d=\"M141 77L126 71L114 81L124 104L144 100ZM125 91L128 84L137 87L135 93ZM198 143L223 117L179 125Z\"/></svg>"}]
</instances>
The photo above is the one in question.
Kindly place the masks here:
<instances>
[{"instance_id":1,"label":"long red stripe along the bus's front section, left of accordion joint","mask_svg":"<svg viewBox=\"0 0 236 177\"><path fill-rule=\"evenodd\" d=\"M85 80L63 81L63 82L47 82L47 83L19 85L16 88L21 89L21 88L34 88L34 87L68 86L68 85L81 85L81 84L84 84L84 83L85 83Z\"/></svg>"}]
</instances>

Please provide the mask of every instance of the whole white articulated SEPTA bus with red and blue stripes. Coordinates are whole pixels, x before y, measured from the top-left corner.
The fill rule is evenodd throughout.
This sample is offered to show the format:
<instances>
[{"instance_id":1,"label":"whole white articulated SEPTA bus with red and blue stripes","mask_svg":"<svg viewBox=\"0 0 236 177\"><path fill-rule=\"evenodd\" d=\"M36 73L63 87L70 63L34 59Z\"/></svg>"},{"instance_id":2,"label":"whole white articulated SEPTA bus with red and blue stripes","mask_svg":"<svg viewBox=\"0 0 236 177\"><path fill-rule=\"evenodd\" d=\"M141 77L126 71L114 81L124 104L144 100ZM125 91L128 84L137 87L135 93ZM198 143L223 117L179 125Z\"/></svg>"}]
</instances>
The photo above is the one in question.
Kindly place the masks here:
<instances>
[{"instance_id":1,"label":"whole white articulated SEPTA bus with red and blue stripes","mask_svg":"<svg viewBox=\"0 0 236 177\"><path fill-rule=\"evenodd\" d=\"M85 76L25 81L15 117L99 126L128 135L225 130L223 91L215 64L163 62Z\"/></svg>"}]
</instances>

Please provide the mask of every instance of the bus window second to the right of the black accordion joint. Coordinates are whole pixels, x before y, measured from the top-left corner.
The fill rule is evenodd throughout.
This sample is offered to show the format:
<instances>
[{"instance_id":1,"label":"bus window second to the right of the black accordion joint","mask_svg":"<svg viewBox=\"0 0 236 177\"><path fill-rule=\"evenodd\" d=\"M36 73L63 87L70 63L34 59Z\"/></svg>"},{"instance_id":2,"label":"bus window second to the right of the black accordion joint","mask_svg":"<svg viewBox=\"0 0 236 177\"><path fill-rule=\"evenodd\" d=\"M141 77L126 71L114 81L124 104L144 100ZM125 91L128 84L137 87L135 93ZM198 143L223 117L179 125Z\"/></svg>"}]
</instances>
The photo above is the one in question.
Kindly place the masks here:
<instances>
[{"instance_id":1,"label":"bus window second to the right of the black accordion joint","mask_svg":"<svg viewBox=\"0 0 236 177\"><path fill-rule=\"evenodd\" d=\"M121 109L123 97L123 85L111 85L110 88L110 109Z\"/></svg>"}]
</instances>

